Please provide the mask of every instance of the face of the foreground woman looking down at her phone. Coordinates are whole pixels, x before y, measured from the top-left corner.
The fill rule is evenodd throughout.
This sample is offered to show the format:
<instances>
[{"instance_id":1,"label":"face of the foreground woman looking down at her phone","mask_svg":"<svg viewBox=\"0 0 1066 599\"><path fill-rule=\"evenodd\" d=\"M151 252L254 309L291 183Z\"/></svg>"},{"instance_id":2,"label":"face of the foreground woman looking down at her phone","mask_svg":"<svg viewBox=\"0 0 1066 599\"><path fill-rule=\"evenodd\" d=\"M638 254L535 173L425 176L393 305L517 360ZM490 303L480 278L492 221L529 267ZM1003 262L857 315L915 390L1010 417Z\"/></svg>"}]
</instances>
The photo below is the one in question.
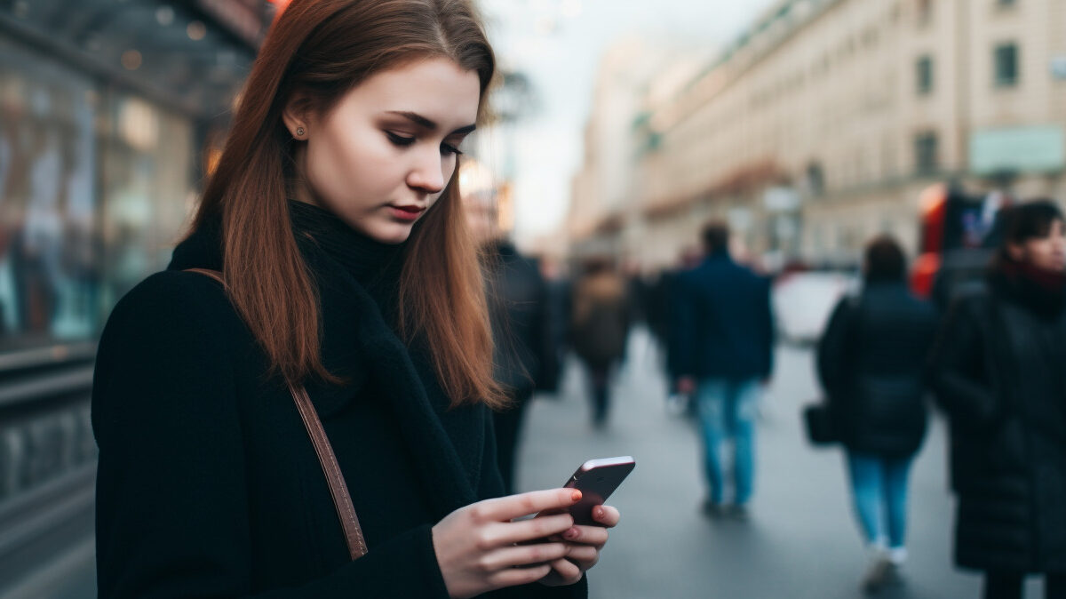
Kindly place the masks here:
<instances>
[{"instance_id":1,"label":"face of the foreground woman looking down at her phone","mask_svg":"<svg viewBox=\"0 0 1066 599\"><path fill-rule=\"evenodd\" d=\"M435 58L374 74L324 114L290 102L296 199L376 241L406 241L451 180L480 96L475 71Z\"/></svg>"}]
</instances>

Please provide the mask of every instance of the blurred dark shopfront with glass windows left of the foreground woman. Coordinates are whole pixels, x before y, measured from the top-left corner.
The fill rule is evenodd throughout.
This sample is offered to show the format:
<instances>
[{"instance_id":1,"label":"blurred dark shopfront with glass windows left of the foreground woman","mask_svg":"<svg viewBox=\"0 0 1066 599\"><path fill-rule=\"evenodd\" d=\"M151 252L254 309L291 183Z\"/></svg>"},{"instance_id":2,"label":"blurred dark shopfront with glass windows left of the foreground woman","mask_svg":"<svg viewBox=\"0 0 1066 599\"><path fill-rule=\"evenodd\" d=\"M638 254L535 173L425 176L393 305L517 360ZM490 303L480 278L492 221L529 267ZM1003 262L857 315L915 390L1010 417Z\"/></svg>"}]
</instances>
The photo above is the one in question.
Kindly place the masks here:
<instances>
[{"instance_id":1,"label":"blurred dark shopfront with glass windows left of the foreground woman","mask_svg":"<svg viewBox=\"0 0 1066 599\"><path fill-rule=\"evenodd\" d=\"M166 265L273 15L0 1L0 595L92 538L96 340Z\"/></svg>"}]
</instances>

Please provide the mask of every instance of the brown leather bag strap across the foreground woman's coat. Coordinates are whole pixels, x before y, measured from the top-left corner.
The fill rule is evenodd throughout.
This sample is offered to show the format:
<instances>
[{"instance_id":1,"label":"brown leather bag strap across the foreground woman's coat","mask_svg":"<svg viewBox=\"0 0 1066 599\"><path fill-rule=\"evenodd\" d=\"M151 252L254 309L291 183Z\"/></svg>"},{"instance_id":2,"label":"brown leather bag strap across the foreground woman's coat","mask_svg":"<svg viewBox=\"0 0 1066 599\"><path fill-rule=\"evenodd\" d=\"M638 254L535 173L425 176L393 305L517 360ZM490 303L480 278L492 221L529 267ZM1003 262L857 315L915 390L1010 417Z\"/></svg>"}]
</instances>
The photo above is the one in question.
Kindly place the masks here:
<instances>
[{"instance_id":1,"label":"brown leather bag strap across the foreground woman's coat","mask_svg":"<svg viewBox=\"0 0 1066 599\"><path fill-rule=\"evenodd\" d=\"M208 269L185 270L191 273L209 276L223 286L226 285L222 273L219 271ZM367 541L362 538L359 518L355 515L355 506L352 505L352 497L348 493L348 484L344 483L344 474L340 471L340 465L337 464L337 456L333 452L333 446L329 444L329 438L326 437L326 432L322 428L322 421L319 420L319 415L314 411L314 406L311 404L311 399L308 396L307 390L302 386L289 385L289 393L292 394L292 401L296 403L296 410L300 412L300 418L304 421L304 428L307 430L307 436L311 438L311 443L314 446L314 453L319 456L319 465L322 466L322 472L325 474L326 483L329 485L329 495L333 496L334 507L337 508L337 517L344 529L344 541L348 544L349 555L352 556L353 561L358 560L367 554Z\"/></svg>"}]
</instances>

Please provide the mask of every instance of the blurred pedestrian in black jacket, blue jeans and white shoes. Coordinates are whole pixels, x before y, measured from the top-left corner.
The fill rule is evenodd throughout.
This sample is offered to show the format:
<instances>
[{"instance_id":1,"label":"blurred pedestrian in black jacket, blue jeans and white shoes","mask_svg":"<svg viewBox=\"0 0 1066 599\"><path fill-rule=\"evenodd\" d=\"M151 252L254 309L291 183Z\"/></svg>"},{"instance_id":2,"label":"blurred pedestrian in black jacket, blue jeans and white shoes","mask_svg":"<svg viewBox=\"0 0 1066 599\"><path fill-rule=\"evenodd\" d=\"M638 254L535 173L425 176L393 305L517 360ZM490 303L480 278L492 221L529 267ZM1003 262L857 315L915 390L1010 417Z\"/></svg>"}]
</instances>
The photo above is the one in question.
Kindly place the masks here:
<instances>
[{"instance_id":1,"label":"blurred pedestrian in black jacket, blue jeans and white shoes","mask_svg":"<svg viewBox=\"0 0 1066 599\"><path fill-rule=\"evenodd\" d=\"M870 549L868 592L893 579L907 557L907 477L925 436L923 375L936 310L910 294L905 276L892 238L870 242L862 291L837 304L818 346L819 378Z\"/></svg>"}]
</instances>

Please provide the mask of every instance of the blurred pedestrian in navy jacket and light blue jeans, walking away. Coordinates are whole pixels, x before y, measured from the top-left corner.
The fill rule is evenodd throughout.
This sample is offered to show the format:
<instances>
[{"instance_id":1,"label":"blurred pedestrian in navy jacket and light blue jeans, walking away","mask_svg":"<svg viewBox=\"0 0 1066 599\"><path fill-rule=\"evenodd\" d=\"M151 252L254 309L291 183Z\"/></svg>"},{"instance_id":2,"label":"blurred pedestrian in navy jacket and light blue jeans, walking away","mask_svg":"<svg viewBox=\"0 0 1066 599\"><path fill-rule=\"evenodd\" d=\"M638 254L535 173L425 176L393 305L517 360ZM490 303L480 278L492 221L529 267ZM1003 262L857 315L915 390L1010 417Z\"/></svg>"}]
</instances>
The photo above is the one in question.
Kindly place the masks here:
<instances>
[{"instance_id":1,"label":"blurred pedestrian in navy jacket and light blue jeans, walking away","mask_svg":"<svg viewBox=\"0 0 1066 599\"><path fill-rule=\"evenodd\" d=\"M744 519L755 481L755 418L773 370L770 281L732 260L725 224L709 224L702 238L706 258L677 277L678 391L697 402L709 487L704 513ZM726 441L733 448L728 508L720 456Z\"/></svg>"}]
</instances>

